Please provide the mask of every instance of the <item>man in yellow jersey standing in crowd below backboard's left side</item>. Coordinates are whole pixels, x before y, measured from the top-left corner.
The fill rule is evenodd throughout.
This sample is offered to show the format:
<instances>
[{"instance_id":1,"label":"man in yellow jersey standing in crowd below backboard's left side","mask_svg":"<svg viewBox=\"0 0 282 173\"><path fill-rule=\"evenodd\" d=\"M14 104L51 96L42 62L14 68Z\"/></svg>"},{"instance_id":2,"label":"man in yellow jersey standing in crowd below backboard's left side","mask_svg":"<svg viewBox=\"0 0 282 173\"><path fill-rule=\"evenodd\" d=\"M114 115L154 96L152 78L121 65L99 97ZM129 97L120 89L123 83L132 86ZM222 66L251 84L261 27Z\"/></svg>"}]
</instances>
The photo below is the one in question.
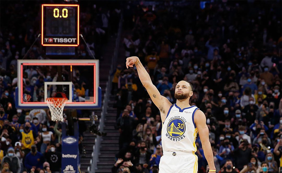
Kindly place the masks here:
<instances>
[{"instance_id":1,"label":"man in yellow jersey standing in crowd below backboard's left side","mask_svg":"<svg viewBox=\"0 0 282 173\"><path fill-rule=\"evenodd\" d=\"M31 146L37 144L37 141L34 141L36 134L31 130L31 124L26 122L24 124L24 131L21 132L20 142L22 143L22 150L24 154L30 152Z\"/></svg>"}]
</instances>

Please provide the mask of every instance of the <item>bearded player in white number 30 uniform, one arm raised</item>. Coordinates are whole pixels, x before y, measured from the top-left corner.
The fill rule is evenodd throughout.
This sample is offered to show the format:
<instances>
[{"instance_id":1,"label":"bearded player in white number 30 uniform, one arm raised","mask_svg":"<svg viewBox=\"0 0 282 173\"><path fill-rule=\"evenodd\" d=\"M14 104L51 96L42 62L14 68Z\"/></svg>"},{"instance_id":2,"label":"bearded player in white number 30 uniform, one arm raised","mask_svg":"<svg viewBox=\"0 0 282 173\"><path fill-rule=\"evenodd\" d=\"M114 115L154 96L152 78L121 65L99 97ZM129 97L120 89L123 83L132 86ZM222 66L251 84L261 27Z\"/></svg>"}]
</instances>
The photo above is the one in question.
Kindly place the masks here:
<instances>
[{"instance_id":1,"label":"bearded player in white number 30 uniform, one arm raised","mask_svg":"<svg viewBox=\"0 0 282 173\"><path fill-rule=\"evenodd\" d=\"M184 80L178 82L174 93L177 99L176 104L171 104L159 93L138 57L126 59L127 68L133 65L136 66L143 86L161 112L163 156L159 164L159 173L198 172L198 157L195 155L197 151L195 139L198 132L205 158L209 164L209 173L215 173L214 156L209 142L209 129L205 114L197 106L189 105L189 99L193 95L193 86Z\"/></svg>"}]
</instances>

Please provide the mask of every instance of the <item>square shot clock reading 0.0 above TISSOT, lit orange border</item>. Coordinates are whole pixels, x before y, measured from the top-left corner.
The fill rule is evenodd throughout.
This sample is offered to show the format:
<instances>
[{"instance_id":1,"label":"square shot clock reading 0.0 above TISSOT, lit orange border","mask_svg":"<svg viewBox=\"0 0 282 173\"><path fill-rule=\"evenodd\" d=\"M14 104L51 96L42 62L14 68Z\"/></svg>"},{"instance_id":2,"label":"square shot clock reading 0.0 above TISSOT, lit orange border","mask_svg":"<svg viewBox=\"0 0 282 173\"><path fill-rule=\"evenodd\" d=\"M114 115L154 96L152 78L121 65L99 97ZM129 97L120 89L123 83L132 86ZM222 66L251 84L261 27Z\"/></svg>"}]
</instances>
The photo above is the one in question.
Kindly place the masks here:
<instances>
[{"instance_id":1,"label":"square shot clock reading 0.0 above TISSOT, lit orange border","mask_svg":"<svg viewBox=\"0 0 282 173\"><path fill-rule=\"evenodd\" d=\"M79 45L79 5L42 4L41 44L43 46Z\"/></svg>"}]
</instances>

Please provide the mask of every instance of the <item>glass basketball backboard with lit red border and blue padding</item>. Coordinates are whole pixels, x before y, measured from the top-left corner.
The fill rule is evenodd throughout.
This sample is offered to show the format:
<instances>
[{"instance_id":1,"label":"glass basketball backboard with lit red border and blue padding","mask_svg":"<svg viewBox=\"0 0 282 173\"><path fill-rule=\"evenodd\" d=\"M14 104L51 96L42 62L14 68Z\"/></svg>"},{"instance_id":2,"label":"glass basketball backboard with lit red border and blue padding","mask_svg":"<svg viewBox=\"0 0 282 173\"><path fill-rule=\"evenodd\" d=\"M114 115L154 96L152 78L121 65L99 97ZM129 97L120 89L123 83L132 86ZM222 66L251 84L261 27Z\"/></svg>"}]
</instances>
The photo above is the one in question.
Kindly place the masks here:
<instances>
[{"instance_id":1,"label":"glass basketball backboard with lit red border and blue padding","mask_svg":"<svg viewBox=\"0 0 282 173\"><path fill-rule=\"evenodd\" d=\"M99 60L18 60L17 108L48 109L46 98L58 92L65 109L100 108Z\"/></svg>"}]
</instances>

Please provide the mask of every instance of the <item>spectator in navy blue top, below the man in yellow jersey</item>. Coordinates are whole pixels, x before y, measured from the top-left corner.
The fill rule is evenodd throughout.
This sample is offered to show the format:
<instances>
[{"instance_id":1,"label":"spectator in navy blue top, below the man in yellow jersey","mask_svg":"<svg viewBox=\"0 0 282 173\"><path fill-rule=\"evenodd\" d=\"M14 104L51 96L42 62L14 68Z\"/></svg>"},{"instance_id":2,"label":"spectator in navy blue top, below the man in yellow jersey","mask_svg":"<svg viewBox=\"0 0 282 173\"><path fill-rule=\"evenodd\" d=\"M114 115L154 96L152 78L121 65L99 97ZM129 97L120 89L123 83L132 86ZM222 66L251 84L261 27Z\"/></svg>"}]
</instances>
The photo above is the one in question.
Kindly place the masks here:
<instances>
[{"instance_id":1,"label":"spectator in navy blue top, below the man in yellow jersey","mask_svg":"<svg viewBox=\"0 0 282 173\"><path fill-rule=\"evenodd\" d=\"M36 145L32 145L31 152L28 153L24 159L24 166L27 170L34 168L35 170L39 171L43 168L44 161L45 159L43 155L37 151Z\"/></svg>"}]
</instances>

